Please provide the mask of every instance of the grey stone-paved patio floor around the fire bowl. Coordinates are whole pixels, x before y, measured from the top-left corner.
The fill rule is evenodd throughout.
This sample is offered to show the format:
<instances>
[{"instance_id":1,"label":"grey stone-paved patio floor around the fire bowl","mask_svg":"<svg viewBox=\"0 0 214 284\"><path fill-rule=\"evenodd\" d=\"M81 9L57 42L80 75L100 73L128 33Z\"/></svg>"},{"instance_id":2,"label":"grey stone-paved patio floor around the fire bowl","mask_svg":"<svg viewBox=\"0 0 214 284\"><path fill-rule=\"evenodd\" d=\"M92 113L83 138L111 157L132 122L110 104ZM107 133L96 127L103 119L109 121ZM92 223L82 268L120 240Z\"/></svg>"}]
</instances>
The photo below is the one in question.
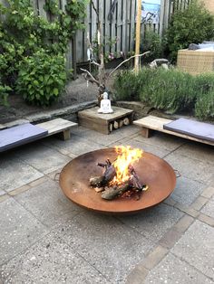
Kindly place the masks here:
<instances>
[{"instance_id":1,"label":"grey stone-paved patio floor around the fire bowl","mask_svg":"<svg viewBox=\"0 0 214 284\"><path fill-rule=\"evenodd\" d=\"M130 216L88 212L62 193L73 157L131 145L179 170L162 204ZM0 156L0 283L214 283L213 147L135 126L111 135L74 128Z\"/></svg>"}]
</instances>

